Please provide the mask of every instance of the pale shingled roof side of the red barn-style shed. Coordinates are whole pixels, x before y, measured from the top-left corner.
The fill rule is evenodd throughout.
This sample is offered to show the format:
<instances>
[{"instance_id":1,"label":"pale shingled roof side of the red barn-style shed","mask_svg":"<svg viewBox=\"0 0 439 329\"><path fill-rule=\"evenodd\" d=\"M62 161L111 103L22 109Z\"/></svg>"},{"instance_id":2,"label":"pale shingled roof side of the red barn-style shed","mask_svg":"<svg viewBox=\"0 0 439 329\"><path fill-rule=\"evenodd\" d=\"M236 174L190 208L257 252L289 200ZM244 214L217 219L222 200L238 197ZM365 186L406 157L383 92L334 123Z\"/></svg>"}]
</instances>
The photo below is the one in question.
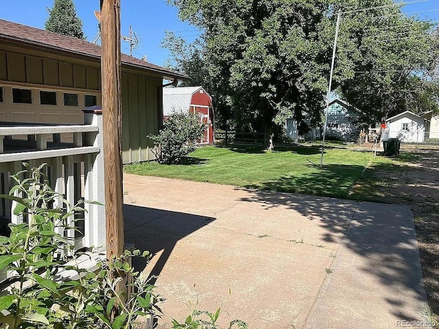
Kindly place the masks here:
<instances>
[{"instance_id":1,"label":"pale shingled roof side of the red barn-style shed","mask_svg":"<svg viewBox=\"0 0 439 329\"><path fill-rule=\"evenodd\" d=\"M192 95L200 89L202 89L201 86L163 88L163 115L168 116L173 112L188 112Z\"/></svg>"}]
</instances>

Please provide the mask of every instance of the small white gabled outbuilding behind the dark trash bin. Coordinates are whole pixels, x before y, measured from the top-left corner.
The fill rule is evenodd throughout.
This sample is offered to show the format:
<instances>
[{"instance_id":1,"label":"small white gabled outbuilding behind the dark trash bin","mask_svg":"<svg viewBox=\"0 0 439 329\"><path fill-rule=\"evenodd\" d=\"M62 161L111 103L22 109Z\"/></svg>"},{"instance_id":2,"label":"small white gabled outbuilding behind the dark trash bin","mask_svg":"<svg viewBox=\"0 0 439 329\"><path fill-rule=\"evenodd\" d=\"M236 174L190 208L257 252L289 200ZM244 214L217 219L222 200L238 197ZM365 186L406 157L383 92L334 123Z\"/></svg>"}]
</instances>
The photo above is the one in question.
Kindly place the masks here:
<instances>
[{"instance_id":1,"label":"small white gabled outbuilding behind the dark trash bin","mask_svg":"<svg viewBox=\"0 0 439 329\"><path fill-rule=\"evenodd\" d=\"M425 135L425 119L405 111L385 121L383 139L399 138L401 142L422 143Z\"/></svg>"}]
</instances>

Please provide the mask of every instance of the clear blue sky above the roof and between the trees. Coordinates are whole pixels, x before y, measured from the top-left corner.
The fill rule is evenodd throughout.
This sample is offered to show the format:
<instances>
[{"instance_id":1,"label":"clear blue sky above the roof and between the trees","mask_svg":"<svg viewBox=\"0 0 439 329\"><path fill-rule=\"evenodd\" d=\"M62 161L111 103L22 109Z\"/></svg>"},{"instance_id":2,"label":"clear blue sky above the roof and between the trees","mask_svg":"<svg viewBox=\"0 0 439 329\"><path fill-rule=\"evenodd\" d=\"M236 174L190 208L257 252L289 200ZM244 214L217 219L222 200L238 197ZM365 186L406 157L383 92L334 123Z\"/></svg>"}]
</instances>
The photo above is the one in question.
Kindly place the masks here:
<instances>
[{"instance_id":1,"label":"clear blue sky above the roof and between the trees","mask_svg":"<svg viewBox=\"0 0 439 329\"><path fill-rule=\"evenodd\" d=\"M416 2L415 2L416 1ZM47 7L52 7L54 0L2 0L0 19L44 28L49 16ZM401 2L395 0L396 3ZM405 12L420 12L421 18L439 21L439 0L405 0ZM97 20L94 10L99 10L99 0L74 0L78 16L84 23L84 33L91 40L97 33ZM17 10L19 8L19 10ZM427 11L428 10L428 11ZM431 11L434 10L434 11ZM176 35L193 40L198 31L188 23L178 19L177 10L166 4L165 0L121 0L121 29L128 36L129 26L140 40L133 56L147 56L149 62L163 65L169 56L167 49L160 47L165 30L174 31ZM128 42L122 42L122 52L129 53Z\"/></svg>"}]
</instances>

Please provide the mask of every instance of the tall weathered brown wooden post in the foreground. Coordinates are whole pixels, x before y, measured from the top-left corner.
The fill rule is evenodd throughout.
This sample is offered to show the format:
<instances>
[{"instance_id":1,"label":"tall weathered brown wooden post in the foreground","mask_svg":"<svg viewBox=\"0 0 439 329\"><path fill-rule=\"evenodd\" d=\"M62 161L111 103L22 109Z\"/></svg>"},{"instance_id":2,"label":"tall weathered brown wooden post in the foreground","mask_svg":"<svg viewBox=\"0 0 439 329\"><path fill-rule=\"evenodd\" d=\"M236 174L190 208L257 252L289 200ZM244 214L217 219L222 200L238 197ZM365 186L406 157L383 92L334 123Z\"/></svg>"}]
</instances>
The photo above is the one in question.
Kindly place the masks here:
<instances>
[{"instance_id":1,"label":"tall weathered brown wooden post in the foreground","mask_svg":"<svg viewBox=\"0 0 439 329\"><path fill-rule=\"evenodd\" d=\"M121 5L120 0L100 0L100 2L106 254L108 259L112 259L123 253Z\"/></svg>"}]
</instances>

